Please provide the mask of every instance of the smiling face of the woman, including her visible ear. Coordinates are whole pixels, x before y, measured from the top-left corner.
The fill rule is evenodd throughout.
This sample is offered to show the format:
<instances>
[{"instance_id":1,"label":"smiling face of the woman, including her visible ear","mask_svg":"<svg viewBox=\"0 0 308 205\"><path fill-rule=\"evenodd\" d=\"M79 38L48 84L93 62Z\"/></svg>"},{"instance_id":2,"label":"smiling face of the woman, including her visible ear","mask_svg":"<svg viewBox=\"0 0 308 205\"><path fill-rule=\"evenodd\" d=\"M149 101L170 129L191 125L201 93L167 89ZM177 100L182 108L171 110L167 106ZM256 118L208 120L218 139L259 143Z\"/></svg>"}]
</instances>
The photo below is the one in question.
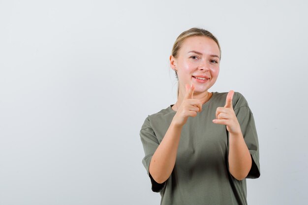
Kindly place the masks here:
<instances>
[{"instance_id":1,"label":"smiling face of the woman, including her visible ear","mask_svg":"<svg viewBox=\"0 0 308 205\"><path fill-rule=\"evenodd\" d=\"M182 43L178 56L170 56L170 66L177 70L180 90L185 84L195 86L194 93L207 92L219 73L220 52L216 42L205 36L192 36Z\"/></svg>"}]
</instances>

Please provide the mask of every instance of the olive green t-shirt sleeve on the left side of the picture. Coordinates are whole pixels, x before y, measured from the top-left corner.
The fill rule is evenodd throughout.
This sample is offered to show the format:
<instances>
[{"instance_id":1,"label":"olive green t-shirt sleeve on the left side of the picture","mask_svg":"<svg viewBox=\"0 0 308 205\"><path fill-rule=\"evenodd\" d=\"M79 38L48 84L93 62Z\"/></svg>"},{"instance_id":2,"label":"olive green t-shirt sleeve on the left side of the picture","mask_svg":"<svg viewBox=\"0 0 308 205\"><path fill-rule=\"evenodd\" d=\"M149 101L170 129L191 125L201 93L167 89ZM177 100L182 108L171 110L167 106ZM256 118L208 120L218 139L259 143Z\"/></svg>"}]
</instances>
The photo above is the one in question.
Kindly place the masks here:
<instances>
[{"instance_id":1,"label":"olive green t-shirt sleeve on the left side of the picture","mask_svg":"<svg viewBox=\"0 0 308 205\"><path fill-rule=\"evenodd\" d=\"M149 116L146 118L144 124L140 130L141 142L143 145L143 150L145 153L145 157L142 159L142 164L147 170L147 174L151 179L152 183L152 191L160 192L166 185L166 181L163 183L157 183L149 172L149 166L154 152L156 151L159 142L157 137L155 136L154 130L151 127Z\"/></svg>"}]
</instances>

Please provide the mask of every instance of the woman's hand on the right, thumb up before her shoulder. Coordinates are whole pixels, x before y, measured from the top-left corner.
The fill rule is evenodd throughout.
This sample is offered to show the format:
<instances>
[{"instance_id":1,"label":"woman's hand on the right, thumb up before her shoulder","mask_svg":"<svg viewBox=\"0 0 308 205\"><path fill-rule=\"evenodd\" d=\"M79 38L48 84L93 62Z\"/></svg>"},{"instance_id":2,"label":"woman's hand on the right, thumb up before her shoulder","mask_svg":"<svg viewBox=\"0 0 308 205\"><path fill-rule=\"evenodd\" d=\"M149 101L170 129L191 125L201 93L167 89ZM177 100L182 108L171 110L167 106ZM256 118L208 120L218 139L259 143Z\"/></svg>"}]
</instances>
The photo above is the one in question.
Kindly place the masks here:
<instances>
[{"instance_id":1,"label":"woman's hand on the right, thumb up before her shoulder","mask_svg":"<svg viewBox=\"0 0 308 205\"><path fill-rule=\"evenodd\" d=\"M232 98L234 91L230 90L227 95L226 104L224 107L217 107L216 109L216 119L213 120L213 123L226 125L227 130L233 134L242 133L241 127L238 119L236 118L235 112L232 106Z\"/></svg>"}]
</instances>

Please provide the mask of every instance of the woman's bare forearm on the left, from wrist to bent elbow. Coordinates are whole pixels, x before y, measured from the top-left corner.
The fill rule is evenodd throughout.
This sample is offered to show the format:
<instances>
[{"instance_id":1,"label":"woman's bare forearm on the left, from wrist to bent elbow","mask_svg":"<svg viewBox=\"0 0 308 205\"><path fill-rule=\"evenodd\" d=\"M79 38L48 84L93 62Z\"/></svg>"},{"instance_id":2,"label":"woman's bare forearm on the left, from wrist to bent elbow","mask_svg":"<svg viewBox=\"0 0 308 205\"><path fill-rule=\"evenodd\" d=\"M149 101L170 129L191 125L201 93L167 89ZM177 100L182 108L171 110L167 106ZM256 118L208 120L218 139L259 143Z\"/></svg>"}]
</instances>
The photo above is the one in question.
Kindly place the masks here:
<instances>
[{"instance_id":1,"label":"woman's bare forearm on the left, from wrist to bent elbow","mask_svg":"<svg viewBox=\"0 0 308 205\"><path fill-rule=\"evenodd\" d=\"M172 173L177 157L181 131L181 126L171 123L163 140L152 156L149 172L158 183L163 183Z\"/></svg>"}]
</instances>

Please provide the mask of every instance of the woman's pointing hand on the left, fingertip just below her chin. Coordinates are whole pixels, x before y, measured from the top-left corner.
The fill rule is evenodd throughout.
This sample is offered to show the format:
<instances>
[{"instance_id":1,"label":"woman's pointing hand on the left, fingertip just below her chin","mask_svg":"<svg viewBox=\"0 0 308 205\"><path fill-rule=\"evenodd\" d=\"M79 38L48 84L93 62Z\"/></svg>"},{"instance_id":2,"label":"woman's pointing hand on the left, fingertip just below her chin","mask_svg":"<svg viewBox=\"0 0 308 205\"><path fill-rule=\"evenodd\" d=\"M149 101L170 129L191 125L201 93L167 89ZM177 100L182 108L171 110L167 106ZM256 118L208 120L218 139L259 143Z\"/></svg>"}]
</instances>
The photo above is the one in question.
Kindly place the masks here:
<instances>
[{"instance_id":1,"label":"woman's pointing hand on the left, fingertip just below her chin","mask_svg":"<svg viewBox=\"0 0 308 205\"><path fill-rule=\"evenodd\" d=\"M202 103L198 99L193 99L194 85L185 84L186 93L182 104L178 108L177 113L173 117L172 123L174 125L183 127L188 117L196 117L197 112L202 111Z\"/></svg>"}]
</instances>

